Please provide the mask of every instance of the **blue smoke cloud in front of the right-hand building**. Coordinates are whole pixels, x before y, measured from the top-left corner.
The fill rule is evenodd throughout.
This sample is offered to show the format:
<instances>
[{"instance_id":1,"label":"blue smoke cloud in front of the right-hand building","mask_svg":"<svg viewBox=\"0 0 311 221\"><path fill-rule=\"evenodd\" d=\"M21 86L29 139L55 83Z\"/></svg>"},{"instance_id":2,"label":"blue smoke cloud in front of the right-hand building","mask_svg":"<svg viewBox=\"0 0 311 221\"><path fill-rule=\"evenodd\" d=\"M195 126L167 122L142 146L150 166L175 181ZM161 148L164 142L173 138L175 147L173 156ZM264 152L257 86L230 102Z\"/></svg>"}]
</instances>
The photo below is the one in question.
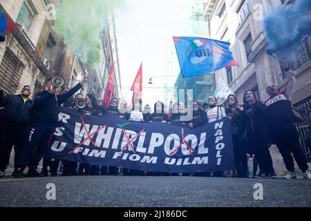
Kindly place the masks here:
<instances>
[{"instance_id":1,"label":"blue smoke cloud in front of the right-hand building","mask_svg":"<svg viewBox=\"0 0 311 221\"><path fill-rule=\"evenodd\" d=\"M279 8L263 21L269 42L266 52L278 59L292 61L305 37L311 35L311 1L297 0L297 5Z\"/></svg>"}]
</instances>

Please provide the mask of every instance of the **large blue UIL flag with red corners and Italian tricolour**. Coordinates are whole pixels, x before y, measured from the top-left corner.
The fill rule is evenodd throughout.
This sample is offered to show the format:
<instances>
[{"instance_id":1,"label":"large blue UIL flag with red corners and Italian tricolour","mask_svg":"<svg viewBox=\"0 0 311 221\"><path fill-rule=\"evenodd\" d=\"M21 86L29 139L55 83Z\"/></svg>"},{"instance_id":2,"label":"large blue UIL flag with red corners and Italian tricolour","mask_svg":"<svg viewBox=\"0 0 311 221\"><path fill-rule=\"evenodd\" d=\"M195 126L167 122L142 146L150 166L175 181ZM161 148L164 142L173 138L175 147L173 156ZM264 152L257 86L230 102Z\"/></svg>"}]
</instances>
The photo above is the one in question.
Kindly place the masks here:
<instances>
[{"instance_id":1,"label":"large blue UIL flag with red corners and Italian tricolour","mask_svg":"<svg viewBox=\"0 0 311 221\"><path fill-rule=\"evenodd\" d=\"M230 43L202 37L173 37L182 77L204 75L227 66L238 66Z\"/></svg>"}]
</instances>

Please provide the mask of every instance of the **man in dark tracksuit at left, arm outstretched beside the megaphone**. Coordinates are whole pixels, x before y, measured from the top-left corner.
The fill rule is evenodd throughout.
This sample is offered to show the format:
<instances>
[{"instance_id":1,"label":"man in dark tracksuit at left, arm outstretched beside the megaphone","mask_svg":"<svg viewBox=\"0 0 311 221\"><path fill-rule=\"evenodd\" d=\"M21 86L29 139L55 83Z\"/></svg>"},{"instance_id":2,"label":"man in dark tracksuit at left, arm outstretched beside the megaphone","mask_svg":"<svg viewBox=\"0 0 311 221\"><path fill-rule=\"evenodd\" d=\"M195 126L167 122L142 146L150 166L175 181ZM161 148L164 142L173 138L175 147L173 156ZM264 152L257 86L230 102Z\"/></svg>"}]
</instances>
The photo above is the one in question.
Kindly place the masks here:
<instances>
[{"instance_id":1,"label":"man in dark tracksuit at left, arm outstretched beside the megaphone","mask_svg":"<svg viewBox=\"0 0 311 221\"><path fill-rule=\"evenodd\" d=\"M51 79L48 79L46 90L37 93L32 108L32 122L30 124L28 143L26 146L23 146L21 155L17 160L13 173L14 177L23 177L23 170L30 161L34 151L36 157L32 157L28 175L39 175L37 173L37 165L42 155L44 155L46 145L52 141L53 133L57 127L57 106L66 102L69 97L82 88L84 83L86 83L86 77L69 90L68 93L56 95L56 88L53 86Z\"/></svg>"}]
</instances>

